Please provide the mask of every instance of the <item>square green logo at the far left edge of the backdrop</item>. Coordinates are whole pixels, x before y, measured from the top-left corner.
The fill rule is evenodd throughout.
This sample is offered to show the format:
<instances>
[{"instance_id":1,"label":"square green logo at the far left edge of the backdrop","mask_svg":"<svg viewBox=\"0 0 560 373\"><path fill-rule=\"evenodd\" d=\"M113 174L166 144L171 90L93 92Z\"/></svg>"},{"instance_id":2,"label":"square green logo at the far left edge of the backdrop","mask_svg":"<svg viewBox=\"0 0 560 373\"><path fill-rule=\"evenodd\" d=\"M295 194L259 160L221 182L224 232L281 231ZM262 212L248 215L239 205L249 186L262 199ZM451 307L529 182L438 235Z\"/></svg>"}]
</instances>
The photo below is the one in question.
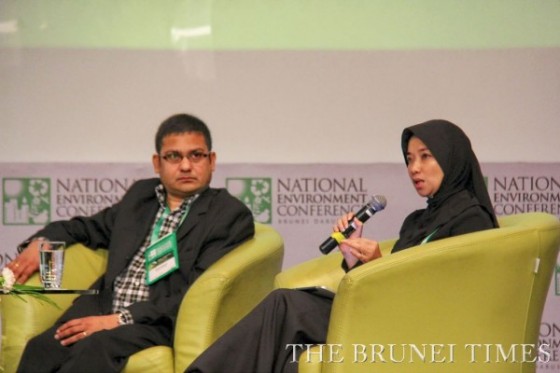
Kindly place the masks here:
<instances>
[{"instance_id":1,"label":"square green logo at the far left edge of the backdrop","mask_svg":"<svg viewBox=\"0 0 560 373\"><path fill-rule=\"evenodd\" d=\"M49 178L3 178L4 225L44 225L50 222Z\"/></svg>"}]
</instances>

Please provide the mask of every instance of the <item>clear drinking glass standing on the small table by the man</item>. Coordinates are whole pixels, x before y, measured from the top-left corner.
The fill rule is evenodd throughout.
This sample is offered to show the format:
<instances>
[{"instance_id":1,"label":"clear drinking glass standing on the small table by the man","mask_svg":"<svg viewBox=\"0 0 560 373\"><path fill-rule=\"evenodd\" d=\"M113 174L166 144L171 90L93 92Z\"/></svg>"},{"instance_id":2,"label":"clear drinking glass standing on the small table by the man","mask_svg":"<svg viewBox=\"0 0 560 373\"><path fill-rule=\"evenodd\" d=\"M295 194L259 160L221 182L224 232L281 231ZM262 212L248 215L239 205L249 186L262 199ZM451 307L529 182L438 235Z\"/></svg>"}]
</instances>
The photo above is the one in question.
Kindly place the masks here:
<instances>
[{"instance_id":1,"label":"clear drinking glass standing on the small table by the man","mask_svg":"<svg viewBox=\"0 0 560 373\"><path fill-rule=\"evenodd\" d=\"M59 289L64 271L64 248L62 241L39 243L39 272L45 289Z\"/></svg>"}]
</instances>

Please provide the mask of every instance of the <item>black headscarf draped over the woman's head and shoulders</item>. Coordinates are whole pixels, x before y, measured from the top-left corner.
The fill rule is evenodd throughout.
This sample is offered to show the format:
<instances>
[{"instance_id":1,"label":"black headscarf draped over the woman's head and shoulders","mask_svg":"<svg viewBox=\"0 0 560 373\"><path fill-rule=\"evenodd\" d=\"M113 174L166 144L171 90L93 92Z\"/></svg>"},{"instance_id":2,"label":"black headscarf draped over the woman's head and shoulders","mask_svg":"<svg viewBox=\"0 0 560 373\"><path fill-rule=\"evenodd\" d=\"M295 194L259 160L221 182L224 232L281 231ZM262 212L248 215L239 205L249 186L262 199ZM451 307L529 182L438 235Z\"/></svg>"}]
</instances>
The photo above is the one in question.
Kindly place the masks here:
<instances>
[{"instance_id":1,"label":"black headscarf draped over the woman's head and shoulders","mask_svg":"<svg viewBox=\"0 0 560 373\"><path fill-rule=\"evenodd\" d=\"M413 136L430 149L444 176L438 191L428 198L428 207L405 220L394 251L419 244L430 233L474 205L482 207L497 227L484 177L467 135L446 120L430 120L405 128L401 137L405 163L408 142Z\"/></svg>"}]
</instances>

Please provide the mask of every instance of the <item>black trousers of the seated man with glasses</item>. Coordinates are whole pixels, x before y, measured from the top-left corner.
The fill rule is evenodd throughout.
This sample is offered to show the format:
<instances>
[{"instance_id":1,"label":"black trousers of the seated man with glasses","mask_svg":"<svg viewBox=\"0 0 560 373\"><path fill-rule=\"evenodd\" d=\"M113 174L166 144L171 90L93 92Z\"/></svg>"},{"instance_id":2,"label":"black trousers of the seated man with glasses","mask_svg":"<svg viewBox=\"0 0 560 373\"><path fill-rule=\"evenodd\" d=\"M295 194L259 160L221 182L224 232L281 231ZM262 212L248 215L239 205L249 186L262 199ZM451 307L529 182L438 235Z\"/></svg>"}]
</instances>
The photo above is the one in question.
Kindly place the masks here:
<instances>
[{"instance_id":1,"label":"black trousers of the seated man with glasses","mask_svg":"<svg viewBox=\"0 0 560 373\"><path fill-rule=\"evenodd\" d=\"M74 318L99 315L94 298L81 297L54 326L32 338L25 347L17 371L120 372L133 353L152 346L171 345L168 327L131 324L92 333L73 345L62 346L60 341L54 339L56 329Z\"/></svg>"}]
</instances>

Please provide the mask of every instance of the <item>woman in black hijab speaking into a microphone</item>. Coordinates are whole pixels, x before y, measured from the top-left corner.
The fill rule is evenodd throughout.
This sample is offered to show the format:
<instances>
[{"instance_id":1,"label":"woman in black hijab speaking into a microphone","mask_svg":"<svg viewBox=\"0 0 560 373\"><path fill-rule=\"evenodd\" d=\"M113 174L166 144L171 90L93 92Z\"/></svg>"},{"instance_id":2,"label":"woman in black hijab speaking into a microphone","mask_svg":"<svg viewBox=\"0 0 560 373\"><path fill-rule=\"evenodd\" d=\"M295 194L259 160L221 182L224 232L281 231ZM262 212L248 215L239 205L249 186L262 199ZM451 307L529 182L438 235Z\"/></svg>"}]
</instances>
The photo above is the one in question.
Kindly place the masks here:
<instances>
[{"instance_id":1,"label":"woman in black hijab speaking into a microphone","mask_svg":"<svg viewBox=\"0 0 560 373\"><path fill-rule=\"evenodd\" d=\"M403 131L401 145L410 179L428 206L405 219L393 253L498 227L478 160L459 127L444 120L421 123ZM334 230L346 229L352 217L343 216ZM340 245L345 270L381 256L377 241L362 238L361 223L354 221L358 229ZM275 290L185 372L297 372L297 360L287 347L325 343L331 308L328 297Z\"/></svg>"}]
</instances>

